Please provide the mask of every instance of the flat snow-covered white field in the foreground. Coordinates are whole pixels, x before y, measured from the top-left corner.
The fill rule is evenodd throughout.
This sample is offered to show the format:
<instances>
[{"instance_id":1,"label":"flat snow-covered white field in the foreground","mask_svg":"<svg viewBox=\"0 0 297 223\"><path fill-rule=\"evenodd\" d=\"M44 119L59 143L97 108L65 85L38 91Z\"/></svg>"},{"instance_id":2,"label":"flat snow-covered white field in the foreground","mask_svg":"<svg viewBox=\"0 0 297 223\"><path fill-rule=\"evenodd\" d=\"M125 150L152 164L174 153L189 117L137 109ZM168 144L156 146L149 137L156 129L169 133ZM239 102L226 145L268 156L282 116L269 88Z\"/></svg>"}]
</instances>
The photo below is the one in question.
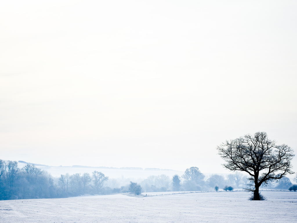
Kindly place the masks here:
<instances>
[{"instance_id":1,"label":"flat snow-covered white field in the foreground","mask_svg":"<svg viewBox=\"0 0 297 223\"><path fill-rule=\"evenodd\" d=\"M262 193L266 201L244 191L5 200L0 222L297 222L297 192Z\"/></svg>"}]
</instances>

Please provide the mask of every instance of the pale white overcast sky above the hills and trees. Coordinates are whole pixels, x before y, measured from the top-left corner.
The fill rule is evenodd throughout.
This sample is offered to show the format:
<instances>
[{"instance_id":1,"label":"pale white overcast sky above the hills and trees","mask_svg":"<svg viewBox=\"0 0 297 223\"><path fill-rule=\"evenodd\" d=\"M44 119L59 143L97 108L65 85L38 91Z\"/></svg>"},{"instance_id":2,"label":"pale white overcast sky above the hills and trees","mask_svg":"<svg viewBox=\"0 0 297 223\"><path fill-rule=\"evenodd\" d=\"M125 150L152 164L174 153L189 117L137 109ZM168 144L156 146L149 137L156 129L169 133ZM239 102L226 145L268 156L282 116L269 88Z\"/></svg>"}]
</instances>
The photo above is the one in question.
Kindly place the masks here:
<instances>
[{"instance_id":1,"label":"pale white overcast sky above the hills and trees","mask_svg":"<svg viewBox=\"0 0 297 223\"><path fill-rule=\"evenodd\" d=\"M216 146L257 131L297 151L296 12L1 1L0 159L226 173Z\"/></svg>"}]
</instances>

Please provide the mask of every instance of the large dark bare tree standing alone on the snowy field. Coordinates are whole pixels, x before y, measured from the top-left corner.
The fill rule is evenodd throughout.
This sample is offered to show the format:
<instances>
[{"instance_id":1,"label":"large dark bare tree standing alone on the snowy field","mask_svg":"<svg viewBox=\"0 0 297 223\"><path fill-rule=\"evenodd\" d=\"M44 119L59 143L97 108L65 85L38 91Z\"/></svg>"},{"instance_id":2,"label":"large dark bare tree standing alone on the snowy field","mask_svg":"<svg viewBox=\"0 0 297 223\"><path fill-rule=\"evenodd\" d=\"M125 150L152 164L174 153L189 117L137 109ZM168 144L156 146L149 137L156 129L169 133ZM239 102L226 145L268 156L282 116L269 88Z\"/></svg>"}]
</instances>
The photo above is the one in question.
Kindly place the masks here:
<instances>
[{"instance_id":1,"label":"large dark bare tree standing alone on the snowy field","mask_svg":"<svg viewBox=\"0 0 297 223\"><path fill-rule=\"evenodd\" d=\"M256 132L238 139L226 141L217 147L219 155L227 162L226 169L245 171L250 175L248 191L254 200L260 200L259 187L269 180L277 180L286 174L293 174L290 161L295 156L293 150L283 144L268 139L266 132Z\"/></svg>"}]
</instances>

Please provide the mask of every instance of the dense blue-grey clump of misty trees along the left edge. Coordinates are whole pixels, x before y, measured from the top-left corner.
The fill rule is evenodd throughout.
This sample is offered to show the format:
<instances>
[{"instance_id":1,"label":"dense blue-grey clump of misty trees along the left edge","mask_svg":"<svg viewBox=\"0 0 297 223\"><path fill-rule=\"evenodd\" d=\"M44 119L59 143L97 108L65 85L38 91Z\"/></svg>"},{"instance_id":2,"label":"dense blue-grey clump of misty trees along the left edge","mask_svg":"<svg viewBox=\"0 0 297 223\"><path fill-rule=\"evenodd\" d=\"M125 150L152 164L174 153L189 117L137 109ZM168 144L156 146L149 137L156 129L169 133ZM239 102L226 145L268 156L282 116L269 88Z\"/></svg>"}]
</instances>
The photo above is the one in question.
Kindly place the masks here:
<instances>
[{"instance_id":1,"label":"dense blue-grey clump of misty trees along the left edge","mask_svg":"<svg viewBox=\"0 0 297 223\"><path fill-rule=\"evenodd\" d=\"M112 193L110 188L104 187L107 180L108 177L102 172L94 171L92 175L67 173L61 175L58 182L54 183L54 178L47 171L34 165L26 164L23 168L19 168L17 161L5 162L0 159L0 200Z\"/></svg>"}]
</instances>

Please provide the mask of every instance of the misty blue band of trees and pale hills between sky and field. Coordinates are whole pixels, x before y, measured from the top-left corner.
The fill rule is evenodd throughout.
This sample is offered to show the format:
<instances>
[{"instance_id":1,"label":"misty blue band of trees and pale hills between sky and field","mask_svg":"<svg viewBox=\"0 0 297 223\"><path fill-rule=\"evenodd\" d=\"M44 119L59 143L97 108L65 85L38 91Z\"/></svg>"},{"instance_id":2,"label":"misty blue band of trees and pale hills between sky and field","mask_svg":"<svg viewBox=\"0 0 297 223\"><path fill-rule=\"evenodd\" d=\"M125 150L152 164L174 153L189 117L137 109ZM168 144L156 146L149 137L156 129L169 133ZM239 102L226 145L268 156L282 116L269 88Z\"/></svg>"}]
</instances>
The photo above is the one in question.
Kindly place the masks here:
<instances>
[{"instance_id":1,"label":"misty blue band of trees and pale hills between sky and field","mask_svg":"<svg viewBox=\"0 0 297 223\"><path fill-rule=\"evenodd\" d=\"M35 166L36 165L36 166ZM261 190L297 191L297 175L261 185ZM245 172L202 173L198 167L184 172L136 167L50 167L0 159L0 200L64 198L86 195L172 191L247 191L255 184Z\"/></svg>"}]
</instances>

